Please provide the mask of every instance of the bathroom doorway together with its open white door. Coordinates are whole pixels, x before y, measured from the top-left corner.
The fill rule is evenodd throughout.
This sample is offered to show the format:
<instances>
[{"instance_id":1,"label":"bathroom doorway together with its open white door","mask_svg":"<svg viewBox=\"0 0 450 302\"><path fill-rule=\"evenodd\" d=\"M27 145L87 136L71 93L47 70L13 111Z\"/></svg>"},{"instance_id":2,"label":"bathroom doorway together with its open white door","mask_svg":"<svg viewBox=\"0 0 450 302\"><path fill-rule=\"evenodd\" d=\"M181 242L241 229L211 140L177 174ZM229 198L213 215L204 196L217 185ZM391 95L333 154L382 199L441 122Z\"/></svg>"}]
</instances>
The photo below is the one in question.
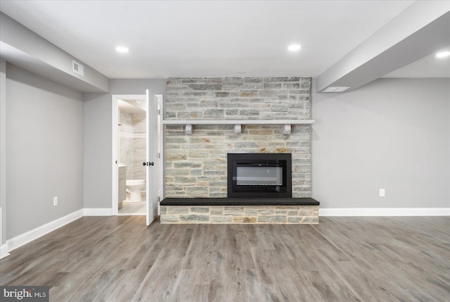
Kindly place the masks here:
<instances>
[{"instance_id":1,"label":"bathroom doorway together with its open white door","mask_svg":"<svg viewBox=\"0 0 450 302\"><path fill-rule=\"evenodd\" d=\"M160 196L159 103L148 91L113 95L112 212L146 215L147 225L158 216Z\"/></svg>"}]
</instances>

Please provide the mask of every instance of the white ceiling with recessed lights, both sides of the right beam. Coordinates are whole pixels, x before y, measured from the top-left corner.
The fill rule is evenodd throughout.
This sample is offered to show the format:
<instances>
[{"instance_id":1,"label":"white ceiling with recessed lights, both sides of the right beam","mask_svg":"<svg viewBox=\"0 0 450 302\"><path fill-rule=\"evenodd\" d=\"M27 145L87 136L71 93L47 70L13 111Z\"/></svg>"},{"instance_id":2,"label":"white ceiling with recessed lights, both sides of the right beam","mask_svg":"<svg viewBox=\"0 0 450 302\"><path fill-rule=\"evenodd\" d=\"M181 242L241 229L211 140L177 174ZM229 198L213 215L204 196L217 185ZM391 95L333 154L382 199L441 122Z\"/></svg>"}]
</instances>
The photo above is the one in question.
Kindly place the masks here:
<instances>
[{"instance_id":1,"label":"white ceiling with recessed lights, both sides of the right beam","mask_svg":"<svg viewBox=\"0 0 450 302\"><path fill-rule=\"evenodd\" d=\"M110 78L317 77L413 2L1 0L0 10ZM450 59L429 59L389 76L450 77Z\"/></svg>"}]
</instances>

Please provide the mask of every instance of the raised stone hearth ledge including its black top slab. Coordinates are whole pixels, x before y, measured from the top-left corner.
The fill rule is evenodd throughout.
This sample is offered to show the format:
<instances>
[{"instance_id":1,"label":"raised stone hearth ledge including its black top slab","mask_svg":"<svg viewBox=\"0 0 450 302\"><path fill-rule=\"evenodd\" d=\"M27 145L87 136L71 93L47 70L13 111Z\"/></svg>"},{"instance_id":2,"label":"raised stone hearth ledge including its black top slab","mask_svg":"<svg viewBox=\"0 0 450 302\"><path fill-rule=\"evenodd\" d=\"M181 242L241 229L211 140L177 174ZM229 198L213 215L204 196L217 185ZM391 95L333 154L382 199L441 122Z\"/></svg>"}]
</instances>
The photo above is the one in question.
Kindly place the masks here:
<instances>
[{"instance_id":1,"label":"raised stone hearth ledge including its black top slab","mask_svg":"<svg viewBox=\"0 0 450 302\"><path fill-rule=\"evenodd\" d=\"M319 201L310 198L167 198L160 222L168 224L317 224Z\"/></svg>"}]
</instances>

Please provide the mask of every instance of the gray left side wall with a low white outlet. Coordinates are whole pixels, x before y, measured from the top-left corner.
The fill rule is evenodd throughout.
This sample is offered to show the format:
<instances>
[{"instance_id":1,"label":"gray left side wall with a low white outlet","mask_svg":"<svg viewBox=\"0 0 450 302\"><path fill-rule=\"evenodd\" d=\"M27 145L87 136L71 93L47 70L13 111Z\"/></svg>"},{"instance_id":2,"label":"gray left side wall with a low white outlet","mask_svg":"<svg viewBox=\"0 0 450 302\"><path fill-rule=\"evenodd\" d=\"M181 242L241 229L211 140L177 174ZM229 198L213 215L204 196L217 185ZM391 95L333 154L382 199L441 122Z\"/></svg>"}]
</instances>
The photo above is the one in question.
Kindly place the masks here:
<instances>
[{"instance_id":1,"label":"gray left side wall with a low white outlet","mask_svg":"<svg viewBox=\"0 0 450 302\"><path fill-rule=\"evenodd\" d=\"M6 115L11 239L83 207L82 94L7 64Z\"/></svg>"}]
</instances>

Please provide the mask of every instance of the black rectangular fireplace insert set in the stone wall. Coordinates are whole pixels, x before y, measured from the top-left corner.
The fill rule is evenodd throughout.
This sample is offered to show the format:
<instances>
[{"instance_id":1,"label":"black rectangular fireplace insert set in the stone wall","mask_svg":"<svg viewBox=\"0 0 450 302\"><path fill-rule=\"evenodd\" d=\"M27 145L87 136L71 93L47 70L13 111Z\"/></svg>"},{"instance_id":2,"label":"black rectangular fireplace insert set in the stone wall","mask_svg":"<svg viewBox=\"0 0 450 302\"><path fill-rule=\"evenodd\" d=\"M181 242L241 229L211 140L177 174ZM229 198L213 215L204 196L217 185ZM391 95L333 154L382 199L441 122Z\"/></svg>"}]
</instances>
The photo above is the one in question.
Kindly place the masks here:
<instances>
[{"instance_id":1,"label":"black rectangular fireplace insert set in the stone wall","mask_svg":"<svg viewBox=\"0 0 450 302\"><path fill-rule=\"evenodd\" d=\"M290 153L228 153L228 197L292 197Z\"/></svg>"}]
</instances>

